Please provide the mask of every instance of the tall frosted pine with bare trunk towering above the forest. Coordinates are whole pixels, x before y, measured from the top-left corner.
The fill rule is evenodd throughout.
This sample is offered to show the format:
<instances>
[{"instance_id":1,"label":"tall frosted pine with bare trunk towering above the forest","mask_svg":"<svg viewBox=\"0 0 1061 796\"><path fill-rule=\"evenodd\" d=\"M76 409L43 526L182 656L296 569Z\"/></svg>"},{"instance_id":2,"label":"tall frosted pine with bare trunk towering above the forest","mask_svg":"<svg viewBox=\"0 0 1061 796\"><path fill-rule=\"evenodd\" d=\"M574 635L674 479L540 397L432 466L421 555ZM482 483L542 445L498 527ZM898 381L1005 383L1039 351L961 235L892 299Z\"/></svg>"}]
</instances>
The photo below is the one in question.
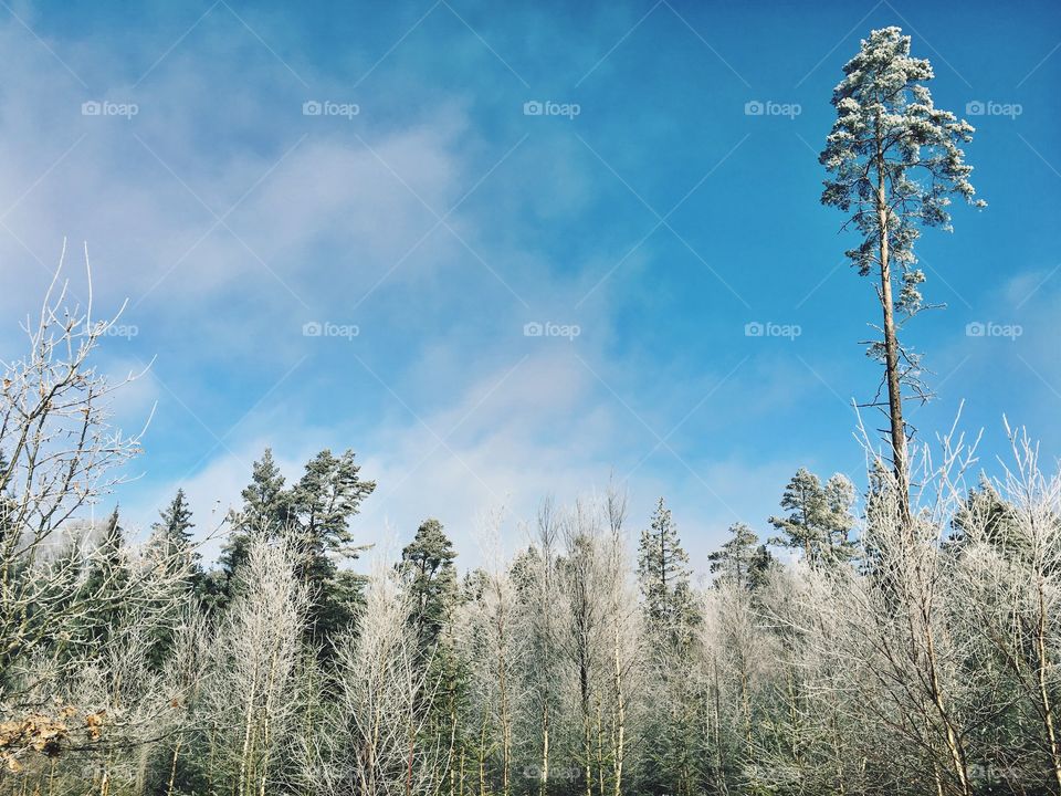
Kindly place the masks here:
<instances>
[{"instance_id":1,"label":"tall frosted pine with bare trunk towering above the forest","mask_svg":"<svg viewBox=\"0 0 1061 796\"><path fill-rule=\"evenodd\" d=\"M908 525L903 390L927 398L920 356L899 341L899 329L923 308L925 274L916 268L914 242L922 227L950 229L953 195L978 207L985 202L973 200L973 168L960 148L973 139L974 128L933 105L924 85L933 77L932 64L911 57L910 36L899 28L872 31L843 72L832 94L837 121L819 158L831 175L821 201L851 213L848 223L862 241L847 255L862 276L879 279L882 339L869 354L884 366L892 465L900 512Z\"/></svg>"}]
</instances>

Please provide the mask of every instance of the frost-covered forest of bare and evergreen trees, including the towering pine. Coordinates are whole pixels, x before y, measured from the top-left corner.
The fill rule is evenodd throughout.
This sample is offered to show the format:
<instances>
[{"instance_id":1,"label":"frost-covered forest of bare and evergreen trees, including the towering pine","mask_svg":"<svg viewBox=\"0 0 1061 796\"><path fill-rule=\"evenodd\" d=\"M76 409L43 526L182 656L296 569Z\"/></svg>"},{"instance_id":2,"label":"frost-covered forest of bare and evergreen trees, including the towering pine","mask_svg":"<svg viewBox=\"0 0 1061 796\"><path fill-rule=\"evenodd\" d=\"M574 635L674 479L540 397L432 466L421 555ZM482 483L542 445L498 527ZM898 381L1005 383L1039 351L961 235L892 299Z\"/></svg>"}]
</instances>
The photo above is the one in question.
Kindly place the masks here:
<instances>
[{"instance_id":1,"label":"frost-covered forest of bare and evergreen trees, including the towering pine","mask_svg":"<svg viewBox=\"0 0 1061 796\"><path fill-rule=\"evenodd\" d=\"M143 434L95 367L118 320L56 273L0 390L0 796L1061 794L1055 461L1007 427L989 475L903 413L928 397L914 243L984 206L932 76L874 30L820 156L880 311L865 485L800 469L707 562L621 483L543 495L514 551L487 511L474 567L432 517L388 556L353 530L354 450L296 480L265 450L222 522L179 490L130 533Z\"/></svg>"}]
</instances>

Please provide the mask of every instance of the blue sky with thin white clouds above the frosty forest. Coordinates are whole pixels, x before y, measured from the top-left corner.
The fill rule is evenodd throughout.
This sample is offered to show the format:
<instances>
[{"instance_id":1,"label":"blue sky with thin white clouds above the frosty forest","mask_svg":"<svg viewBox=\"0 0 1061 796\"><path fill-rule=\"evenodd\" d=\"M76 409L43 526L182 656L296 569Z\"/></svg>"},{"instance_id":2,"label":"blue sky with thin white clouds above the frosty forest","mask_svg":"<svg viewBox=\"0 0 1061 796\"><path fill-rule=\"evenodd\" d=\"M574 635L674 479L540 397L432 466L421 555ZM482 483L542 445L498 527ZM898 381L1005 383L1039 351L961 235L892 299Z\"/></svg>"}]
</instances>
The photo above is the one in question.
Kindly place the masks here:
<instances>
[{"instance_id":1,"label":"blue sky with thin white clouds above the frosty forest","mask_svg":"<svg viewBox=\"0 0 1061 796\"><path fill-rule=\"evenodd\" d=\"M852 401L880 313L819 202L842 66L899 25L976 127L983 211L918 243L905 331L980 465L1004 416L1061 450L1061 7L1030 2L0 2L0 357L59 263L127 305L97 367L149 369L119 503L199 531L273 449L350 448L353 528L435 516L465 566L538 501L665 496L694 568L767 535L799 467L865 482ZM540 333L540 334L536 334ZM960 411L960 417L958 412ZM863 411L871 430L882 425Z\"/></svg>"}]
</instances>

